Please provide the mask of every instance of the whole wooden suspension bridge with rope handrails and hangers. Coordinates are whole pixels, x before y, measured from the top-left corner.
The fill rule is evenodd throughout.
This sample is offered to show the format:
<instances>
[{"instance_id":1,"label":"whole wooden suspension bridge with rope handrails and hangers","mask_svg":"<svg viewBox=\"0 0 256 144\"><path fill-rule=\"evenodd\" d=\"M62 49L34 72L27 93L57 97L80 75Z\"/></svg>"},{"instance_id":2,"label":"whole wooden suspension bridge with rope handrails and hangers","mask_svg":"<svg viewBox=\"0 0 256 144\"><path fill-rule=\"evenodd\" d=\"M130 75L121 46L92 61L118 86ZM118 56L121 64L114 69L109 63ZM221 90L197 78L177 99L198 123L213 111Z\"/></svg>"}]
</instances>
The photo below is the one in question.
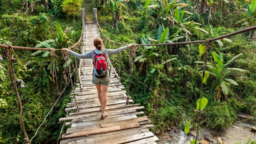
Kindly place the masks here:
<instances>
[{"instance_id":1,"label":"whole wooden suspension bridge with rope handrails and hangers","mask_svg":"<svg viewBox=\"0 0 256 144\"><path fill-rule=\"evenodd\" d=\"M82 9L82 33L78 42L71 46L69 49L81 51L81 54L90 52L94 50L95 47L93 45L93 40L96 37L100 37L100 32L102 29L98 24L96 9L94 9L94 21L90 20L90 18L86 17L84 14L84 9ZM164 43L164 44L135 44L137 46L152 46L152 45L179 45L179 44L202 44L206 42L207 48L204 52L204 70L203 70L203 78L204 73L206 71L206 62L207 62L207 51L210 48L210 42L220 40L223 38L227 38L230 36L234 36L236 34L241 34L243 32L248 32L251 30L256 30L256 26L251 26L248 28L244 28L242 30L238 30L236 32L232 32L223 36L218 36L216 38L207 39L207 40L197 40L192 42L175 42L175 43ZM119 46L127 45L118 42L114 42L110 40L104 33L104 40L108 40L108 43L111 42L112 46L116 43ZM54 51L60 51L61 49L54 48L28 48L28 47L20 47L20 46L10 46L0 44L0 48L5 48L6 55L9 57L9 76L12 81L12 85L16 92L16 97L18 99L19 107L20 107L20 123L22 126L22 130L24 132L24 140L27 144L31 144L33 138L37 135L38 130L44 124L48 115L52 112L52 109L62 96L66 87L71 84L72 94L71 94L71 102L67 104L66 117L60 118L59 121L63 122L62 130L59 136L61 138L60 144L156 144L158 138L150 132L148 128L153 127L150 119L147 116L143 116L144 112L141 111L144 109L140 104L134 104L134 101L130 96L126 95L126 90L124 90L124 86L120 83L120 77L115 71L115 68L112 66L110 60L108 62L109 67L111 68L110 72L110 85L108 88L108 102L106 106L106 112L108 113L108 117L104 120L100 118L101 110L100 110L100 102L98 101L97 89L94 84L92 84L92 71L93 64L91 59L81 59L79 62L79 67L77 68L78 62L75 59L74 72L77 72L78 78L75 86L73 87L72 82L72 73L71 74L71 66L69 68L69 76L70 80L64 90L59 94L58 99L55 104L52 106L52 109L48 112L42 124L36 130L34 136L29 139L26 134L26 130L24 127L24 122L22 120L22 106L20 102L20 96L17 90L17 84L15 79L15 73L13 68L13 61L16 60L12 58L12 52L14 49L18 50L48 50L51 53L51 57L54 56ZM132 50L130 52L130 71L132 70ZM54 63L53 58L52 62ZM55 66L55 64L54 64ZM125 69L124 69L125 70ZM126 71L126 70L125 70ZM126 71L127 72L127 71ZM131 72L130 72L131 73ZM55 73L56 75L56 73ZM132 75L131 75L132 76ZM56 81L57 81L57 76ZM134 77L134 76L133 76ZM134 77L138 80L136 77ZM139 81L139 80L138 80ZM140 81L139 81L140 82ZM140 82L143 84L142 82ZM58 83L57 83L58 84ZM147 87L145 84L143 84ZM57 86L58 87L58 86ZM148 87L147 87L148 88ZM151 90L150 88L148 88ZM58 89L57 89L58 90ZM153 93L156 94L153 90ZM156 94L159 96L158 94ZM166 101L162 96L159 96L162 100L170 104ZM174 107L180 114L184 115L188 119L192 120L188 117L184 112L176 108L176 106L170 104L170 106ZM196 122L194 122L196 124ZM62 134L64 126L69 126L66 130L65 134ZM199 129L200 130L200 129ZM200 130L202 132L202 130ZM62 134L62 135L61 135ZM202 132L204 134L204 132ZM207 138L207 136L204 134Z\"/></svg>"}]
</instances>

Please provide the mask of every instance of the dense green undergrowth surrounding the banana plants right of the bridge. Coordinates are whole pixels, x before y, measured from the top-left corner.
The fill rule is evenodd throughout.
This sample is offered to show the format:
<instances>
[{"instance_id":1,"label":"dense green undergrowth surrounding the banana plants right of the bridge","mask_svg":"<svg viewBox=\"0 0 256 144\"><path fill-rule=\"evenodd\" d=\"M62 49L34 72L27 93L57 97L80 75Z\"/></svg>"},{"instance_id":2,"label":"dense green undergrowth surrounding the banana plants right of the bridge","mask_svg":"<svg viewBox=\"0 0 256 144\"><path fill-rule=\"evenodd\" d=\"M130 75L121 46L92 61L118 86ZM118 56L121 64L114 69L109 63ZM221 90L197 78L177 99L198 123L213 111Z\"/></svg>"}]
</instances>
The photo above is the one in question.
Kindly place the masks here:
<instances>
[{"instance_id":1,"label":"dense green undergrowth surrounding the banana plants right of the bridge","mask_svg":"<svg viewBox=\"0 0 256 144\"><path fill-rule=\"evenodd\" d=\"M220 0L218 2L220 2ZM180 34L183 38L173 42L213 38L214 33L218 31L218 26L220 26L218 36L228 34L240 29L241 24L235 24L237 21L248 18L247 13L240 10L240 8L246 8L247 6L247 3L242 1L239 3L231 1L226 4L223 3L223 6L217 5L211 7L207 5L203 6L203 4L198 5L186 0L180 0L177 4L179 3L183 3L183 5L188 3L189 5L182 6L182 9L193 13L193 15L184 13L184 18L190 16L190 18L188 18L190 21L193 20L194 22L202 24L199 25L200 28L206 30L208 33L188 26L185 28L190 30L191 34L184 32L184 34ZM161 26L165 28L168 27L170 35L176 34L177 30L184 28L172 17L174 16L174 12L170 12L173 15L169 17L161 15L161 10L164 11L163 8L161 9L164 2L150 1L150 5L151 7L147 10L147 21L146 24L144 24L143 18L145 16L141 13L142 11L145 13L144 2L140 0L130 0L129 2L117 4L117 6L119 6L118 8L120 8L119 10L125 11L126 13L120 12L120 20L116 26L113 25L114 12L111 12L111 7L110 9L108 7L101 7L98 19L104 34L116 42L141 43L141 39L144 37L144 42L147 43L147 38L157 40L158 30ZM208 11L203 13L200 12L200 10L195 10L198 6L206 7ZM208 18L210 8L212 10L212 19ZM171 10L174 9L175 7ZM185 26L184 23L183 26ZM144 28L143 24L145 25ZM252 22L252 25L255 25L255 21ZM254 116L252 121L256 120L256 42L248 38L249 34L249 32L246 32L233 36L229 38L230 40L222 40L223 46L218 42L211 44L212 48L208 54L208 62L214 63L211 51L215 51L217 54L222 52L224 54L224 63L234 56L243 53L242 56L239 56L228 65L228 68L241 68L248 71L231 71L226 77L235 80L239 86L226 83L229 93L225 96L223 92L220 92L221 97L220 100L217 101L214 100L214 97L217 92L216 86L218 85L218 79L216 79L215 76L209 76L207 85L204 86L203 93L203 96L208 99L208 105L202 111L201 125L218 130L226 129L238 120L237 114L239 112L250 114ZM151 42L154 41L151 40ZM150 48L148 50L150 50ZM141 61L136 61L137 56L144 54L142 48L139 47L136 50L136 56L134 56L134 61L136 62L134 62L133 75L157 94L163 96L168 102L177 106L180 110L188 114L188 116L196 120L197 114L194 112L194 109L196 107L196 100L200 98L200 71L202 70L201 64L194 63L195 61L202 61L202 58L200 58L198 54L198 44L157 46L154 48L154 52L159 55L152 56L150 60L142 60L139 58ZM177 112L172 106L156 96L154 92L150 91L124 71L124 68L126 70L130 68L128 55L128 52L123 52L122 57L113 56L112 63L115 64L118 72L120 72L122 84L128 88L128 94L136 103L145 106L146 115L149 115L152 123L155 125L152 130L154 132L158 130L164 131L170 126L172 121L179 122L180 127L184 128L186 122L188 122L187 118L182 116L182 114ZM146 56L144 56L144 58L145 57ZM170 58L177 59L170 61L170 63L166 62L163 68L156 67L156 65ZM143 66L141 65L142 63L144 63ZM156 70L151 72L152 68ZM207 68L207 70L210 70L210 68Z\"/></svg>"}]
</instances>

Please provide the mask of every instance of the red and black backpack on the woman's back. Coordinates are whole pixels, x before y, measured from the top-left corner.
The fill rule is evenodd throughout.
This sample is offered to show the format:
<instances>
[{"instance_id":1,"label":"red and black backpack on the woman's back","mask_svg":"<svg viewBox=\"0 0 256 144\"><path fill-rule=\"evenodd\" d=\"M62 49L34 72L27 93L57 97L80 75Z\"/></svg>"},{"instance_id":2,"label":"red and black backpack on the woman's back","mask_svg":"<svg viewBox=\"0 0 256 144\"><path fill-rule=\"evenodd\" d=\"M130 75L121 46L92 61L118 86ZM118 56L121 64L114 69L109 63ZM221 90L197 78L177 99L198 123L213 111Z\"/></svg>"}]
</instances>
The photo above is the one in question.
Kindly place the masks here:
<instances>
[{"instance_id":1,"label":"red and black backpack on the woman's back","mask_svg":"<svg viewBox=\"0 0 256 144\"><path fill-rule=\"evenodd\" d=\"M106 59L106 54L96 54L96 52L94 52L93 64L96 70L95 76L97 78L105 78L107 75L108 61Z\"/></svg>"}]
</instances>

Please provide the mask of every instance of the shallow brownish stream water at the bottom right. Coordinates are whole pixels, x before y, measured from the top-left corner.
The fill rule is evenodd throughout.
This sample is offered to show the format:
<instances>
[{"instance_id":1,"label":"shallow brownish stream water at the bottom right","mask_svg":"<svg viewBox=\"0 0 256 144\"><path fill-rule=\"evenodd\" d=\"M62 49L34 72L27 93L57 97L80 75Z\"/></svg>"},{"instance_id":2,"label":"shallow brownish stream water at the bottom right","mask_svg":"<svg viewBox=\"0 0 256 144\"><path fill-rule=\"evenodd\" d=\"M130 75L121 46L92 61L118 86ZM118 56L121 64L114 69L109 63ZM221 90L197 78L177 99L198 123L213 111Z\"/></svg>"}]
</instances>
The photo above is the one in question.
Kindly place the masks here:
<instances>
[{"instance_id":1,"label":"shallow brownish stream water at the bottom right","mask_svg":"<svg viewBox=\"0 0 256 144\"><path fill-rule=\"evenodd\" d=\"M250 128L254 126L254 124L248 124L241 121L235 122L230 128L224 131L214 131L208 128L202 128L202 131L214 141L214 144L217 143L217 138L220 137L224 144L235 144L240 142L244 144L251 138L252 140L256 140L256 133L251 132ZM175 129L175 130L174 130ZM159 135L158 144L190 144L190 140L192 140L192 136L187 136L185 132L179 130L178 128L174 128L170 131L164 132ZM199 136L199 140L204 138L202 134Z\"/></svg>"}]
</instances>

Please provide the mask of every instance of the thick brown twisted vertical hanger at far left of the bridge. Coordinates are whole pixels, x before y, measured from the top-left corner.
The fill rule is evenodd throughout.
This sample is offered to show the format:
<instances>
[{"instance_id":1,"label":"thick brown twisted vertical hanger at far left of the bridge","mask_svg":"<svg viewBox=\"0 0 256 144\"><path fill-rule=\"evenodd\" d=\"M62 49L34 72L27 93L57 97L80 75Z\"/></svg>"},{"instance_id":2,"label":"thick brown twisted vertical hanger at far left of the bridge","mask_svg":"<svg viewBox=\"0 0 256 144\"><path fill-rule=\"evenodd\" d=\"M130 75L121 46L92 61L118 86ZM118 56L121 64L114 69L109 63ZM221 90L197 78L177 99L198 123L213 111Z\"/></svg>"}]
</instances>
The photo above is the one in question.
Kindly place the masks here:
<instances>
[{"instance_id":1,"label":"thick brown twisted vertical hanger at far left of the bridge","mask_svg":"<svg viewBox=\"0 0 256 144\"><path fill-rule=\"evenodd\" d=\"M23 133L24 133L24 141L26 142L26 144L31 144L31 142L28 138L28 135L26 133L26 130L25 130L24 121L23 121L22 104L21 104L20 95L18 93L18 88L17 88L17 84L16 84L15 72L14 72L14 67L13 67L13 61L16 60L16 59L12 58L12 52L13 52L12 46L10 46L8 44L6 44L6 45L9 46L9 48L10 48L10 50L7 50L5 48L5 52L6 52L6 55L8 56L8 58L9 58L9 76L10 76L10 79L11 79L11 82L12 82L12 86L15 90L16 98L18 100L18 106L20 108L20 124L22 126L22 130L23 130Z\"/></svg>"}]
</instances>

